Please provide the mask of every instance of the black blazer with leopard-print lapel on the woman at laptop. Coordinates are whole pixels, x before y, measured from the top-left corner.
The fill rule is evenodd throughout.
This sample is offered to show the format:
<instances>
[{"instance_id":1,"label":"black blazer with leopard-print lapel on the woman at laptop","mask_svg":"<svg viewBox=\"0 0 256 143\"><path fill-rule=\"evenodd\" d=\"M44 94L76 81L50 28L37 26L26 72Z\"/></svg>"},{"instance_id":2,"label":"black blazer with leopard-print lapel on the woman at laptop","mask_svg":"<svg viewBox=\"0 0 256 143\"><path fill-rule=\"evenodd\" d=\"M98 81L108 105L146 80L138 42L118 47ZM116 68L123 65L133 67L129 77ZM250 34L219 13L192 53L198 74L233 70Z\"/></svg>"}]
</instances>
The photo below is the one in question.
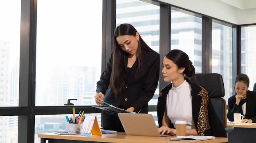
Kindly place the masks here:
<instances>
[{"instance_id":1,"label":"black blazer with leopard-print lapel on the woman at laptop","mask_svg":"<svg viewBox=\"0 0 256 143\"><path fill-rule=\"evenodd\" d=\"M185 79L187 82L189 82L192 89L192 116L198 135L227 137L225 128L221 124L220 119L213 108L211 100L209 99L208 92L203 87L191 82L189 79ZM157 102L157 117L159 127L162 126L162 120L166 108L166 97L171 87L172 83L164 87L159 94ZM171 120L169 128L174 128Z\"/></svg>"}]
</instances>

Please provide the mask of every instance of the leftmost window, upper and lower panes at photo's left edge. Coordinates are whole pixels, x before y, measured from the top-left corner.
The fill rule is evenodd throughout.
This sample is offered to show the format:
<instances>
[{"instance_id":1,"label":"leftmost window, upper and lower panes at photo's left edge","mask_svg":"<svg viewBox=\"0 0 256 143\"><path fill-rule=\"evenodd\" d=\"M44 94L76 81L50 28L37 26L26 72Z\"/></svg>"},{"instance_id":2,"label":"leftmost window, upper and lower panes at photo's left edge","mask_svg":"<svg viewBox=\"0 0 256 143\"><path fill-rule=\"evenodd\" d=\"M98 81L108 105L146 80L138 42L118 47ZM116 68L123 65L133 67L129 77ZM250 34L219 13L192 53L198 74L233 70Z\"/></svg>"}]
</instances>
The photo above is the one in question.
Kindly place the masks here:
<instances>
[{"instance_id":1,"label":"leftmost window, upper and lower panes at photo's left edge","mask_svg":"<svg viewBox=\"0 0 256 143\"><path fill-rule=\"evenodd\" d=\"M18 106L20 0L0 0L0 106ZM18 116L0 116L0 143L18 142Z\"/></svg>"}]
</instances>

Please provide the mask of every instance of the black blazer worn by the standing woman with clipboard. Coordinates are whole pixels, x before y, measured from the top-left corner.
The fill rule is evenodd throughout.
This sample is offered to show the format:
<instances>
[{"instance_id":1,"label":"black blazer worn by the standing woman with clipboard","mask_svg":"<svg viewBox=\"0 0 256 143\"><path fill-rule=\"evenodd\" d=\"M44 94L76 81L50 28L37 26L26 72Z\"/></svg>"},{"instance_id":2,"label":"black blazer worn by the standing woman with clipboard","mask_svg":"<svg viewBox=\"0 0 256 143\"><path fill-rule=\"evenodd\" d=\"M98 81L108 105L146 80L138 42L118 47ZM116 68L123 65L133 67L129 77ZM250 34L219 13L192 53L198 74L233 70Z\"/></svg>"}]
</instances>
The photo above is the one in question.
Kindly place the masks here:
<instances>
[{"instance_id":1,"label":"black blazer worn by the standing woman with clipboard","mask_svg":"<svg viewBox=\"0 0 256 143\"><path fill-rule=\"evenodd\" d=\"M159 65L160 55L155 51L142 51L143 61L141 63L141 72L138 78L135 79L135 73L137 71L138 61L136 60L131 67L130 72L127 69L128 55L125 56L124 68L124 80L126 83L126 89L115 98L114 93L108 89L110 82L110 75L112 71L112 56L110 56L105 71L101 74L100 81L97 82L97 93L102 92L105 95L104 101L119 107L123 105L124 109L135 108L136 113L148 113L148 101L153 98L155 89L158 85L159 79ZM106 93L106 94L105 94ZM108 113L111 114L111 113Z\"/></svg>"}]
</instances>

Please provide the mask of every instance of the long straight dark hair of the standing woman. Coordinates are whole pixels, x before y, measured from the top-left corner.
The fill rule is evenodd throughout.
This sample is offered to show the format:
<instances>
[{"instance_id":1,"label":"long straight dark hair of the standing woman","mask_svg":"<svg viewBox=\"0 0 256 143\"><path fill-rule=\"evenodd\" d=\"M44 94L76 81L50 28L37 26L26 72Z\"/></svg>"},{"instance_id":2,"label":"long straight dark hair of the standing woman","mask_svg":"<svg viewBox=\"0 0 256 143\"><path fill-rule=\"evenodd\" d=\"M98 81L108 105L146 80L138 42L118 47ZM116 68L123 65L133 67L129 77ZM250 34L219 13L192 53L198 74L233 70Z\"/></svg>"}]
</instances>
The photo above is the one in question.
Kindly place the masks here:
<instances>
[{"instance_id":1,"label":"long straight dark hair of the standing woman","mask_svg":"<svg viewBox=\"0 0 256 143\"><path fill-rule=\"evenodd\" d=\"M121 49L119 44L117 43L117 37L121 35L132 35L136 36L137 30L130 24L121 24L117 26L114 32L114 55L113 55L113 63L112 63L112 72L110 76L110 87L115 96L119 95L121 91L125 88L125 81L124 81L124 60L125 55L129 55L129 53L125 52ZM145 41L139 35L138 41L138 67L135 74L135 78L139 76L141 71L141 63L142 63L142 50L146 51L153 51Z\"/></svg>"}]
</instances>

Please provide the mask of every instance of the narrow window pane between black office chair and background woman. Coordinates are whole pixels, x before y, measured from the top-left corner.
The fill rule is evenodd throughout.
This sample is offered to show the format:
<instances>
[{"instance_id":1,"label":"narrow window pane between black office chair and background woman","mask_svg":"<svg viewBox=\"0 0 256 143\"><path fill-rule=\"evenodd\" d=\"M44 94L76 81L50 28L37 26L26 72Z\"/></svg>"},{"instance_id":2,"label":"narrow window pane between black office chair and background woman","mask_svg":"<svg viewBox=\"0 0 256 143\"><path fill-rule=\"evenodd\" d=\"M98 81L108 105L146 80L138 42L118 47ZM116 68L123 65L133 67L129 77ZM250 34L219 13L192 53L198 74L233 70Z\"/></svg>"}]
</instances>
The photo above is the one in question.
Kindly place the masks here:
<instances>
[{"instance_id":1,"label":"narrow window pane between black office chair and background woman","mask_svg":"<svg viewBox=\"0 0 256 143\"><path fill-rule=\"evenodd\" d=\"M226 24L227 25L227 24ZM221 74L225 86L225 99L232 96L234 84L232 76L232 26L213 20L212 23L212 73Z\"/></svg>"}]
</instances>

